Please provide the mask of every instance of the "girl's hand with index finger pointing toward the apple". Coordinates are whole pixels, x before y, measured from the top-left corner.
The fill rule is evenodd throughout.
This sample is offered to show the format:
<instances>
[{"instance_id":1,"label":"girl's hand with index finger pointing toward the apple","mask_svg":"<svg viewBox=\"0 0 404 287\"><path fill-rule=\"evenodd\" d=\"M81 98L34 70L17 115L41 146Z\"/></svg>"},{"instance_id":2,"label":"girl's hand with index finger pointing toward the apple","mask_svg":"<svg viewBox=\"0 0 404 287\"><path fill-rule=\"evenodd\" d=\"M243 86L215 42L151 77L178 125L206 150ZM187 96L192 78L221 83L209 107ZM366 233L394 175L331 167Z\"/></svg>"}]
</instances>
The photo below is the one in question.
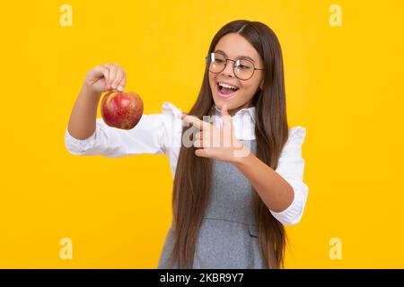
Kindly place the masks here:
<instances>
[{"instance_id":1,"label":"girl's hand with index finger pointing toward the apple","mask_svg":"<svg viewBox=\"0 0 404 287\"><path fill-rule=\"evenodd\" d=\"M219 161L239 161L242 157L249 155L250 149L236 139L232 117L228 114L225 105L222 106L221 112L222 128L195 116L181 114L179 117L200 130L194 135L194 146L198 148L195 151L197 156Z\"/></svg>"}]
</instances>

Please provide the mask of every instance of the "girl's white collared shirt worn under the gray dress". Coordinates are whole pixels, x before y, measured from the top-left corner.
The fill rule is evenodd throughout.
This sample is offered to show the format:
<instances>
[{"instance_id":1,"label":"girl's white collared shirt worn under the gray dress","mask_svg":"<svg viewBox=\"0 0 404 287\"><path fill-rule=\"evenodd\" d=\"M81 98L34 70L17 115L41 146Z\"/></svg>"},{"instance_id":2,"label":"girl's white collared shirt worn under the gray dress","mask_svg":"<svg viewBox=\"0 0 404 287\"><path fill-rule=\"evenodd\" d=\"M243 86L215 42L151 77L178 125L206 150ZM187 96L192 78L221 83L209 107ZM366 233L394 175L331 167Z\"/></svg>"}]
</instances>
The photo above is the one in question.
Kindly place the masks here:
<instances>
[{"instance_id":1,"label":"girl's white collared shirt worn under the gray dress","mask_svg":"<svg viewBox=\"0 0 404 287\"><path fill-rule=\"evenodd\" d=\"M103 155L118 158L140 153L165 154L175 176L180 153L183 120L177 117L181 110L171 102L162 103L162 113L143 115L130 130L107 126L101 117L96 119L94 133L79 140L69 134L66 127L65 143L68 152L77 155ZM215 108L213 124L222 125L220 110ZM235 137L238 140L255 139L255 107L240 109L232 117ZM280 176L294 188L294 201L283 212L271 210L279 222L293 225L300 222L309 188L303 182L304 160L302 144L306 135L303 126L289 128L289 138L280 154L277 169Z\"/></svg>"}]
</instances>

